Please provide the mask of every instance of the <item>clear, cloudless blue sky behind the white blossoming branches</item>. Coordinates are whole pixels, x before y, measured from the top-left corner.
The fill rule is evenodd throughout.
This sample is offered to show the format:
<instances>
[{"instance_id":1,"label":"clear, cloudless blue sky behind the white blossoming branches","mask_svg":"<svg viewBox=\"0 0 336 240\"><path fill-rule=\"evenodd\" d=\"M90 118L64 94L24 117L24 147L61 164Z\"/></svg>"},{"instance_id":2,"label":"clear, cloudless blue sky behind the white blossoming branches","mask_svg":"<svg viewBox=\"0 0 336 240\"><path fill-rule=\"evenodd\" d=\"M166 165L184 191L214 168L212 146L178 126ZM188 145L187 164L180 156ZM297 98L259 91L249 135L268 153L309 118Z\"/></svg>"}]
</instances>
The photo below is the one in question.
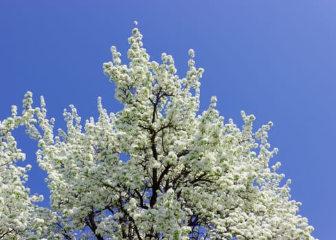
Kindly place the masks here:
<instances>
[{"instance_id":1,"label":"clear, cloudless blue sky behind the white blossoming branches","mask_svg":"<svg viewBox=\"0 0 336 240\"><path fill-rule=\"evenodd\" d=\"M151 59L172 54L183 77L188 49L196 52L201 110L210 97L225 120L255 126L273 121L269 141L280 172L292 179L300 215L314 237L332 239L336 226L336 1L19 1L0 2L0 119L21 106L26 91L44 95L49 117L63 127L74 104L82 119L96 117L97 97L120 109L102 73L115 45L126 60L127 38L139 22ZM21 131L22 132L22 131ZM27 185L46 195L34 163L34 141L16 131L33 165Z\"/></svg>"}]
</instances>

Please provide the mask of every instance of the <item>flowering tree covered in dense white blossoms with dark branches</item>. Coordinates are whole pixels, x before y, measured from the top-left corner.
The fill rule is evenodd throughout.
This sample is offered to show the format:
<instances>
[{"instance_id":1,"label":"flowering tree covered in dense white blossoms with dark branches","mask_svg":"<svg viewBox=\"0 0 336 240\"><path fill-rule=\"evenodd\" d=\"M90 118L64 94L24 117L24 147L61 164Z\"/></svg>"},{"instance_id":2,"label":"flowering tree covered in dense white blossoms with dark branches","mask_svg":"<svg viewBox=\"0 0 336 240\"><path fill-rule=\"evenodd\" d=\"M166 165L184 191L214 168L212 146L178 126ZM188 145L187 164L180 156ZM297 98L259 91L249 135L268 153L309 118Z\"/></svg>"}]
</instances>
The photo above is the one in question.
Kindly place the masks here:
<instances>
[{"instance_id":1,"label":"flowering tree covered in dense white blossoms with dark branches","mask_svg":"<svg viewBox=\"0 0 336 240\"><path fill-rule=\"evenodd\" d=\"M67 130L54 136L45 102L25 95L22 115L0 122L0 239L313 239L297 215L288 180L269 167L271 122L252 131L253 115L241 112L242 130L223 123L212 97L199 110L199 78L189 50L186 77L172 56L150 61L137 28L128 38L128 65L111 48L104 73L115 82L124 108L80 125L76 108L64 112ZM47 171L51 209L39 208L24 187L11 131L25 125L38 141L37 160ZM125 157L126 156L126 157Z\"/></svg>"}]
</instances>

